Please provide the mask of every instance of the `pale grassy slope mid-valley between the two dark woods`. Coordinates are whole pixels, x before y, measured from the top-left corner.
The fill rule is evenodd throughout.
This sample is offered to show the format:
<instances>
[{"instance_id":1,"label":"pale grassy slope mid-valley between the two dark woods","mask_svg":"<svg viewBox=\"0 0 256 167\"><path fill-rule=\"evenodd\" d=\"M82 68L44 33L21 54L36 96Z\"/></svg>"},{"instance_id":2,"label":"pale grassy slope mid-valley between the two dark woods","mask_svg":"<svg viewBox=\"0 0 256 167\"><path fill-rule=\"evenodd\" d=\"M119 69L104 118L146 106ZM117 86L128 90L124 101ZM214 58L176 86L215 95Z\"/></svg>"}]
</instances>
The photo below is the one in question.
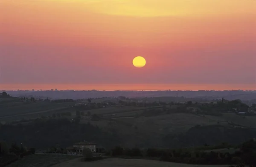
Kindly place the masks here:
<instances>
[{"instance_id":1,"label":"pale grassy slope mid-valley between the two dark woods","mask_svg":"<svg viewBox=\"0 0 256 167\"><path fill-rule=\"evenodd\" d=\"M157 142L161 142L163 135L170 132L180 133L186 132L189 128L194 127L196 124L211 125L217 124L217 121L211 121L204 117L188 114L188 113L175 113L170 115L159 115L154 117L144 118L121 118L113 120L101 121L87 121L81 120L81 123L96 125L103 130L115 129L123 136L123 146L134 147L138 141L145 141L146 138Z\"/></svg>"}]
</instances>

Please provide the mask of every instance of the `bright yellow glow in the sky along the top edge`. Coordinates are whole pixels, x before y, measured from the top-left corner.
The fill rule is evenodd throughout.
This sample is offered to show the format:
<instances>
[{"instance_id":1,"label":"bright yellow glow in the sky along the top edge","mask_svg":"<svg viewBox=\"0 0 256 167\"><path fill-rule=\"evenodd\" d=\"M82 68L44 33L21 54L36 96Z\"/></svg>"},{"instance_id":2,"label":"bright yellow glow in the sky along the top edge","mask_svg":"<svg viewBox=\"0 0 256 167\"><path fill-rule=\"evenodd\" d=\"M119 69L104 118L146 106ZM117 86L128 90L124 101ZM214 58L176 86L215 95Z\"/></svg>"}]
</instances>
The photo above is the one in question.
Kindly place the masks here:
<instances>
[{"instance_id":1,"label":"bright yellow glow in the sky along the top edge","mask_svg":"<svg viewBox=\"0 0 256 167\"><path fill-rule=\"evenodd\" d=\"M244 12L241 5L249 6L244 2L223 0L84 0L84 3L84 7L92 12L132 17L233 14Z\"/></svg>"}]
</instances>

